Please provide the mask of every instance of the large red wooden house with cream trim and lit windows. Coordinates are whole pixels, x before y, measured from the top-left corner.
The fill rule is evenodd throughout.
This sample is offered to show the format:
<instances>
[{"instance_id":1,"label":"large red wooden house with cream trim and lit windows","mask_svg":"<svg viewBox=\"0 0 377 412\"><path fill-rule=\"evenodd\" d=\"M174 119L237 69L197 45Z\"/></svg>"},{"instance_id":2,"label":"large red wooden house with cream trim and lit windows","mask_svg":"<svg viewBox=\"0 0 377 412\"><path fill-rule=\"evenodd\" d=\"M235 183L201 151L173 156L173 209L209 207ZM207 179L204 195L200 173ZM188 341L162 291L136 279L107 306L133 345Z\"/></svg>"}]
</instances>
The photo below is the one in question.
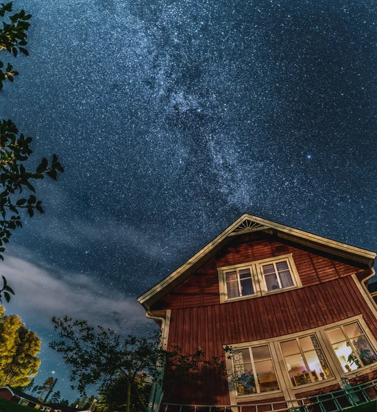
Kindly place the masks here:
<instances>
[{"instance_id":1,"label":"large red wooden house with cream trim and lit windows","mask_svg":"<svg viewBox=\"0 0 377 412\"><path fill-rule=\"evenodd\" d=\"M230 405L312 396L377 378L376 253L243 214L138 298L165 342L233 347L234 383L202 367L164 402ZM154 395L158 397L158 391Z\"/></svg>"}]
</instances>

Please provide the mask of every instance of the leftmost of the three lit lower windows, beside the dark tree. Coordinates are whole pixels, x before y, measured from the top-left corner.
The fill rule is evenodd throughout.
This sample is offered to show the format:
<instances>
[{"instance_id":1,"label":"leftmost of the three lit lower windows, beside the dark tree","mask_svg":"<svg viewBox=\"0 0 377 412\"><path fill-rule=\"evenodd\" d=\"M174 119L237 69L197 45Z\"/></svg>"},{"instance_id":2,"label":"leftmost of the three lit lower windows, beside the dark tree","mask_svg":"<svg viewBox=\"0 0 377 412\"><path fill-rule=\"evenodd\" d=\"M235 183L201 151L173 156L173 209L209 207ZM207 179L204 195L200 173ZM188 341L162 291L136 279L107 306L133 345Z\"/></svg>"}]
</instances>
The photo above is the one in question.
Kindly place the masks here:
<instances>
[{"instance_id":1,"label":"leftmost of the three lit lower windows, beside the dark tree","mask_svg":"<svg viewBox=\"0 0 377 412\"><path fill-rule=\"evenodd\" d=\"M233 364L239 395L280 389L269 345L248 347L234 352Z\"/></svg>"}]
</instances>

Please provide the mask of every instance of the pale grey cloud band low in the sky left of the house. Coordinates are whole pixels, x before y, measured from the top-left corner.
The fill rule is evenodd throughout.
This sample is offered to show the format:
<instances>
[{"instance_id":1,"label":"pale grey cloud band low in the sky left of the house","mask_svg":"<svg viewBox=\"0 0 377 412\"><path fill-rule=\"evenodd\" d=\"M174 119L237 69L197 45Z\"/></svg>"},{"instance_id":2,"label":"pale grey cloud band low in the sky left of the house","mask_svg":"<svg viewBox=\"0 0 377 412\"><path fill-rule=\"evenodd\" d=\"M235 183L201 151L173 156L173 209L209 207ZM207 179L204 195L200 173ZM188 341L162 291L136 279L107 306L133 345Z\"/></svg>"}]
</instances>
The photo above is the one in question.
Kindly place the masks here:
<instances>
[{"instance_id":1,"label":"pale grey cloud band low in the sky left of the house","mask_svg":"<svg viewBox=\"0 0 377 412\"><path fill-rule=\"evenodd\" d=\"M92 325L104 325L120 334L150 328L153 323L136 298L123 297L117 290L104 290L86 275L56 270L8 255L1 274L16 296L7 312L20 314L27 326L50 328L51 316L68 315L85 319Z\"/></svg>"}]
</instances>

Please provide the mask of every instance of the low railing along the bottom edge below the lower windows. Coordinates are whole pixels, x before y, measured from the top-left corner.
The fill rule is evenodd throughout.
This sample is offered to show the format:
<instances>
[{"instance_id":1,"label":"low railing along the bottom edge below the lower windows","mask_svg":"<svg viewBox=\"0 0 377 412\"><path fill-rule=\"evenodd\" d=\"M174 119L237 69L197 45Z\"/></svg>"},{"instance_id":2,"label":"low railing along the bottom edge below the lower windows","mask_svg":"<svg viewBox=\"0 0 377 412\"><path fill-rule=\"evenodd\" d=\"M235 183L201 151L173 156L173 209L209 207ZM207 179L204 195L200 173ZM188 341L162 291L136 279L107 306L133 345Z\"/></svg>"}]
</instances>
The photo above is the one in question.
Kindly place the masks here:
<instances>
[{"instance_id":1,"label":"low railing along the bottom edge below the lower windows","mask_svg":"<svg viewBox=\"0 0 377 412\"><path fill-rule=\"evenodd\" d=\"M377 397L377 380L309 398L243 405L189 405L162 402L155 412L340 412Z\"/></svg>"}]
</instances>

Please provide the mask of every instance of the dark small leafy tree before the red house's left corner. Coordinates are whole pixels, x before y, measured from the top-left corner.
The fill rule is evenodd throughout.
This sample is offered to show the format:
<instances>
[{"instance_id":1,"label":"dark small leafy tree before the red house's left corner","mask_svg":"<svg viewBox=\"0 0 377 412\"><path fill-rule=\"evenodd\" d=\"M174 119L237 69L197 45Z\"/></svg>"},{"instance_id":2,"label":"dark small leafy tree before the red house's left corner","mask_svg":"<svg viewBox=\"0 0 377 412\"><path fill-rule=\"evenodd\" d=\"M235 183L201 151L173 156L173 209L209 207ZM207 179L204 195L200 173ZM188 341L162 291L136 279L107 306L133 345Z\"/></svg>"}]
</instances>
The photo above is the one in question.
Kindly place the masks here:
<instances>
[{"instance_id":1,"label":"dark small leafy tree before the red house's left corner","mask_svg":"<svg viewBox=\"0 0 377 412\"><path fill-rule=\"evenodd\" d=\"M143 409L147 406L138 390L136 380L140 374L147 374L154 382L162 380L163 371L169 370L169 386L176 382L184 385L186 380L197 376L201 365L215 367L226 374L223 358L204 359L202 348L195 354L184 354L178 345L167 350L160 331L147 337L129 335L125 339L113 330L101 326L95 330L86 321L75 321L69 317L52 318L58 330L60 341L50 346L61 353L66 363L72 365L71 380L77 381L77 389L84 393L87 385L97 384L106 388L122 371L127 382L127 407L130 408L131 393L134 392ZM130 411L130 409L126 409Z\"/></svg>"}]
</instances>

